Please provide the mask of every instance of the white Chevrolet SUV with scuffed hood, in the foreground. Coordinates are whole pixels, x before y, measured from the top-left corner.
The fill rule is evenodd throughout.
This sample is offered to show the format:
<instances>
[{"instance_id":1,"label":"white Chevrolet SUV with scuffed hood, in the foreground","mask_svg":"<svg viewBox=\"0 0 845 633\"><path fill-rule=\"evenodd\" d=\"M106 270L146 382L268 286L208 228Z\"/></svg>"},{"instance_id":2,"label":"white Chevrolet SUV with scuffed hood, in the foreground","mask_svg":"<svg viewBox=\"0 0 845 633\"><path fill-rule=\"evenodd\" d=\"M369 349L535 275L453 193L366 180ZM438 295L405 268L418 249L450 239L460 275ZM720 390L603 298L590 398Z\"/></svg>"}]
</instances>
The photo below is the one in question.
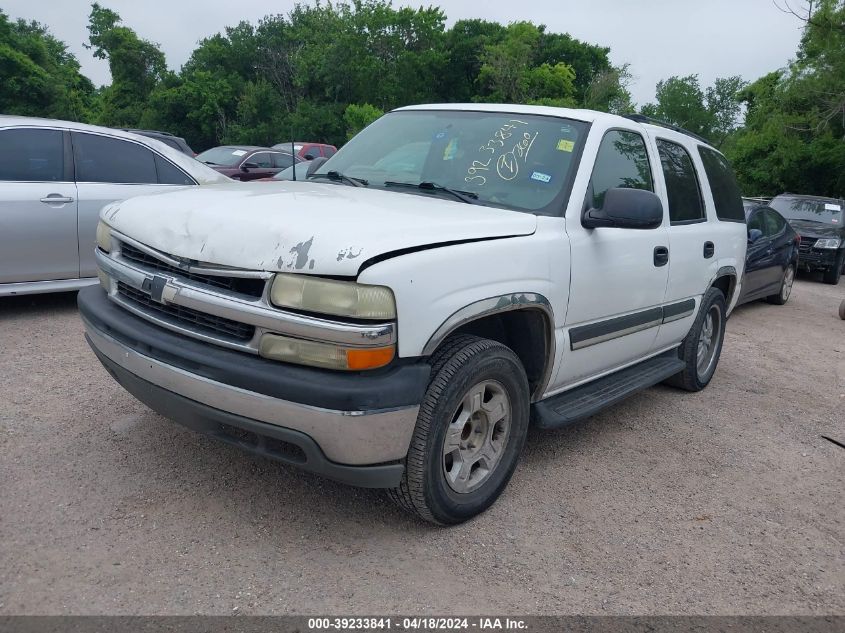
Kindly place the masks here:
<instances>
[{"instance_id":1,"label":"white Chevrolet SUV with scuffed hood, in the foreground","mask_svg":"<svg viewBox=\"0 0 845 633\"><path fill-rule=\"evenodd\" d=\"M683 130L415 106L306 181L105 207L79 307L152 409L450 524L501 494L530 424L707 386L746 241L730 166Z\"/></svg>"}]
</instances>

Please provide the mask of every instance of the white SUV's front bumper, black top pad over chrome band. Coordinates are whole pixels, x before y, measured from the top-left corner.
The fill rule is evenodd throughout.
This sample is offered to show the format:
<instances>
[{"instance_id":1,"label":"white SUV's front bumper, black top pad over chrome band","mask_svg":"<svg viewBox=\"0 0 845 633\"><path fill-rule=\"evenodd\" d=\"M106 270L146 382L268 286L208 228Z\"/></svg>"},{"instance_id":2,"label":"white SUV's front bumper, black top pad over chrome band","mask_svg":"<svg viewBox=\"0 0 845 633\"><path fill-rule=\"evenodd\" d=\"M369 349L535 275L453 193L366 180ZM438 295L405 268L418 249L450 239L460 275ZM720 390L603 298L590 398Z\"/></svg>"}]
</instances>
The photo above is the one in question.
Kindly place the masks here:
<instances>
[{"instance_id":1,"label":"white SUV's front bumper, black top pad over chrome band","mask_svg":"<svg viewBox=\"0 0 845 633\"><path fill-rule=\"evenodd\" d=\"M97 357L158 413L332 479L398 485L428 365L358 374L291 366L163 330L99 287L82 290L78 303Z\"/></svg>"}]
</instances>

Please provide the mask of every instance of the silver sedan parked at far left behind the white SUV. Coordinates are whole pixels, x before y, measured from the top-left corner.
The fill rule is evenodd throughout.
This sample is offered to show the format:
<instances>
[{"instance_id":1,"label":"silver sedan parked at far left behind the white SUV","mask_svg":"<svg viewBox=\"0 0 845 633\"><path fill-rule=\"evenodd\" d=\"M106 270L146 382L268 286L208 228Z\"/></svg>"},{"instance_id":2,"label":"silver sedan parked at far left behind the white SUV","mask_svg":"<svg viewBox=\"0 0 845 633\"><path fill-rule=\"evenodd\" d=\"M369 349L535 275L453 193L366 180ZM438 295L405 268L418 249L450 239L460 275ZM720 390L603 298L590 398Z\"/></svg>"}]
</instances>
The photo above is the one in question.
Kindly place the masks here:
<instances>
[{"instance_id":1,"label":"silver sedan parked at far left behind the white SUV","mask_svg":"<svg viewBox=\"0 0 845 633\"><path fill-rule=\"evenodd\" d=\"M223 182L152 138L0 115L0 296L97 283L97 219L109 202Z\"/></svg>"}]
</instances>

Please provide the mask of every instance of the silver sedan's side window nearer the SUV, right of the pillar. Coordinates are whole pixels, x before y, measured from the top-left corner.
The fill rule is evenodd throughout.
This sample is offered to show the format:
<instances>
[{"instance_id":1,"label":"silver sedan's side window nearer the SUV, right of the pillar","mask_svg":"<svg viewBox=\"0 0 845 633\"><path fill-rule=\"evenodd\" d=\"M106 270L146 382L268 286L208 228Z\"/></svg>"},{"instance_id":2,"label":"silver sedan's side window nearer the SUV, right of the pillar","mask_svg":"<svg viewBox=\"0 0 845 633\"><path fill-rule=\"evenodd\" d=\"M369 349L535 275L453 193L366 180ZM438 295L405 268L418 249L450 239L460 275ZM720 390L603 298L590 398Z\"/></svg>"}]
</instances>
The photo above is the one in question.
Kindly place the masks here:
<instances>
[{"instance_id":1,"label":"silver sedan's side window nearer the SUV, right of the pillar","mask_svg":"<svg viewBox=\"0 0 845 633\"><path fill-rule=\"evenodd\" d=\"M156 184L155 157L137 143L73 133L77 182Z\"/></svg>"}]
</instances>

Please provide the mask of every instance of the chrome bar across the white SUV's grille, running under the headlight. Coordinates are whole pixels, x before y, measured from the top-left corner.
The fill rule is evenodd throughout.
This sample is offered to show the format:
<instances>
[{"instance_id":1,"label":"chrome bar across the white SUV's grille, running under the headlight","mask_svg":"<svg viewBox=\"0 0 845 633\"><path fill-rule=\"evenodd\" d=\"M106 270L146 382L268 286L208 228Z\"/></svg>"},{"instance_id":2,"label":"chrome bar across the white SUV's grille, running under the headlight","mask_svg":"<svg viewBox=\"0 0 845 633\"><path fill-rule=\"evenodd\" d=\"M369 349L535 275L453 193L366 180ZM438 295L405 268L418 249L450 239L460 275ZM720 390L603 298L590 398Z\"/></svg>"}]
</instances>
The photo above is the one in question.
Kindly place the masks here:
<instances>
[{"instance_id":1,"label":"chrome bar across the white SUV's grille, running under the headlight","mask_svg":"<svg viewBox=\"0 0 845 633\"><path fill-rule=\"evenodd\" d=\"M396 342L394 323L363 325L306 317L271 308L266 306L261 299L250 300L244 298L243 295L239 296L224 290L213 291L207 286L203 287L187 279L177 279L163 271L147 272L114 259L99 249L96 251L96 259L97 265L107 275L146 293L149 293L149 283L152 282L154 276L165 278L167 282L162 292L163 303L191 308L267 331L313 341L337 343L350 347L383 346ZM147 282L146 288L145 282ZM115 300L114 294L110 294L109 297ZM126 304L121 305L125 307ZM138 313L136 311L136 314ZM140 316L150 319L150 314L143 310L140 311ZM189 328L183 328L180 331L202 338ZM206 337L206 340L216 342L218 339Z\"/></svg>"}]
</instances>

